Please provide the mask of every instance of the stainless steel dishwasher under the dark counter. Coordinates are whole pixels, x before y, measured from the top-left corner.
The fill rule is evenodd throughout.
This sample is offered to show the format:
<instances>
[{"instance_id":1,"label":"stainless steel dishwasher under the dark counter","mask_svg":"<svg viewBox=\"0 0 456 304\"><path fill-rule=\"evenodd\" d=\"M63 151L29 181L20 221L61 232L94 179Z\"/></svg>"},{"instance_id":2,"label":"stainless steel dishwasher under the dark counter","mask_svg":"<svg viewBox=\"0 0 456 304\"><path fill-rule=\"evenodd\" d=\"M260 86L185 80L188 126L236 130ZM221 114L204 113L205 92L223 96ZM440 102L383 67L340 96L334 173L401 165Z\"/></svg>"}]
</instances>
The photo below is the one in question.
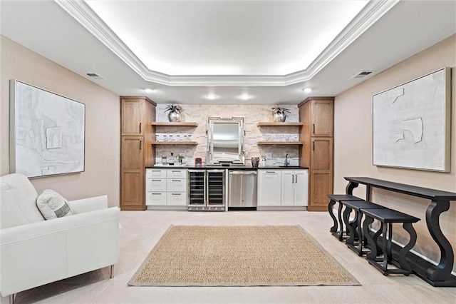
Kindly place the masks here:
<instances>
[{"instance_id":1,"label":"stainless steel dishwasher under the dark counter","mask_svg":"<svg viewBox=\"0 0 456 304\"><path fill-rule=\"evenodd\" d=\"M257 171L229 171L228 207L257 207Z\"/></svg>"}]
</instances>

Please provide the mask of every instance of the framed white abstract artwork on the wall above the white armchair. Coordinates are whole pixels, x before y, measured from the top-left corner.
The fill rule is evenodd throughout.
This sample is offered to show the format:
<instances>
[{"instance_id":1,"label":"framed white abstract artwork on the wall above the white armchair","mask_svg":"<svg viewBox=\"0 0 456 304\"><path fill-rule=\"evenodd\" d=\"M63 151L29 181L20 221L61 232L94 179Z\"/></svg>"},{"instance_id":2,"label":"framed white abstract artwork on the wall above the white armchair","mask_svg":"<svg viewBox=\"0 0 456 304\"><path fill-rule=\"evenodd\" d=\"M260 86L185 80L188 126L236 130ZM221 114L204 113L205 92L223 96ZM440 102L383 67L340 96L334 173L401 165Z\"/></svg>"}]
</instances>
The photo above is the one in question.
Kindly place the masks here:
<instances>
[{"instance_id":1,"label":"framed white abstract artwork on the wall above the white armchair","mask_svg":"<svg viewBox=\"0 0 456 304\"><path fill-rule=\"evenodd\" d=\"M86 105L17 80L10 87L10 172L83 172Z\"/></svg>"}]
</instances>

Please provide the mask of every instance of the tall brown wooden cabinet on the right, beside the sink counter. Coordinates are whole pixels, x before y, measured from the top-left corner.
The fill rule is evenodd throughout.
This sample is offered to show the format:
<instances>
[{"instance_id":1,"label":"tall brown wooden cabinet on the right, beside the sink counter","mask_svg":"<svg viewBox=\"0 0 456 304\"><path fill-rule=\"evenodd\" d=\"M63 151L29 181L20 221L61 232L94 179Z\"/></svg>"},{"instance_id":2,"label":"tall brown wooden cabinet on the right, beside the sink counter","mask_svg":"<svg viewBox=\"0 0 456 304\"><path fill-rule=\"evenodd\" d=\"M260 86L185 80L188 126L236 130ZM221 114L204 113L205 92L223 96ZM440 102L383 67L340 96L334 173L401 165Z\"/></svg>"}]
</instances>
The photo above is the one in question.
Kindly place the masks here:
<instances>
[{"instance_id":1,"label":"tall brown wooden cabinet on the right, beside the sink counter","mask_svg":"<svg viewBox=\"0 0 456 304\"><path fill-rule=\"evenodd\" d=\"M333 97L309 97L299 103L303 123L300 165L309 168L309 211L328 211L333 193Z\"/></svg>"}]
</instances>

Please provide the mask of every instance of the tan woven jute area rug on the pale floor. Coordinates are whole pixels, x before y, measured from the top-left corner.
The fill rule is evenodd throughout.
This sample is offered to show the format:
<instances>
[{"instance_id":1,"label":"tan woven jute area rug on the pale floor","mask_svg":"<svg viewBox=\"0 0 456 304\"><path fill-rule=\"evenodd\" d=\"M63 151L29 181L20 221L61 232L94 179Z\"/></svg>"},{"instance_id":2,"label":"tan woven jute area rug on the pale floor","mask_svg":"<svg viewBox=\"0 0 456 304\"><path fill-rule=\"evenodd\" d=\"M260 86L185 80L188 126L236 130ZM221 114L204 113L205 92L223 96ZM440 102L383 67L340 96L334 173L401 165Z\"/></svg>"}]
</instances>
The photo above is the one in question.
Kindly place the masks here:
<instances>
[{"instance_id":1,"label":"tan woven jute area rug on the pale floor","mask_svg":"<svg viewBox=\"0 0 456 304\"><path fill-rule=\"evenodd\" d=\"M301 226L170 226L128 285L361 285Z\"/></svg>"}]
</instances>

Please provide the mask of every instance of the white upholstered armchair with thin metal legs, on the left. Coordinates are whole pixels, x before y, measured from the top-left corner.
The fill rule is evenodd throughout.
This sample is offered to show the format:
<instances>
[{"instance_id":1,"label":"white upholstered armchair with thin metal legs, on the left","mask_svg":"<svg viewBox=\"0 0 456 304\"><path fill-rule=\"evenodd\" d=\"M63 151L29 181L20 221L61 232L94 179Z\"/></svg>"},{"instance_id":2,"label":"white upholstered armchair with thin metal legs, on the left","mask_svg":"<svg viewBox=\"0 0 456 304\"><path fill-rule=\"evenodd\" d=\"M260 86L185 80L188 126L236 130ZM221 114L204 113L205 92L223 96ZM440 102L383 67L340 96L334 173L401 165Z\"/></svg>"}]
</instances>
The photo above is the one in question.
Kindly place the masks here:
<instances>
[{"instance_id":1,"label":"white upholstered armchair with thin metal legs, on the left","mask_svg":"<svg viewBox=\"0 0 456 304\"><path fill-rule=\"evenodd\" d=\"M9 295L119 260L119 208L108 197L68 201L73 215L46 221L26 176L0 178L0 293Z\"/></svg>"}]
</instances>

